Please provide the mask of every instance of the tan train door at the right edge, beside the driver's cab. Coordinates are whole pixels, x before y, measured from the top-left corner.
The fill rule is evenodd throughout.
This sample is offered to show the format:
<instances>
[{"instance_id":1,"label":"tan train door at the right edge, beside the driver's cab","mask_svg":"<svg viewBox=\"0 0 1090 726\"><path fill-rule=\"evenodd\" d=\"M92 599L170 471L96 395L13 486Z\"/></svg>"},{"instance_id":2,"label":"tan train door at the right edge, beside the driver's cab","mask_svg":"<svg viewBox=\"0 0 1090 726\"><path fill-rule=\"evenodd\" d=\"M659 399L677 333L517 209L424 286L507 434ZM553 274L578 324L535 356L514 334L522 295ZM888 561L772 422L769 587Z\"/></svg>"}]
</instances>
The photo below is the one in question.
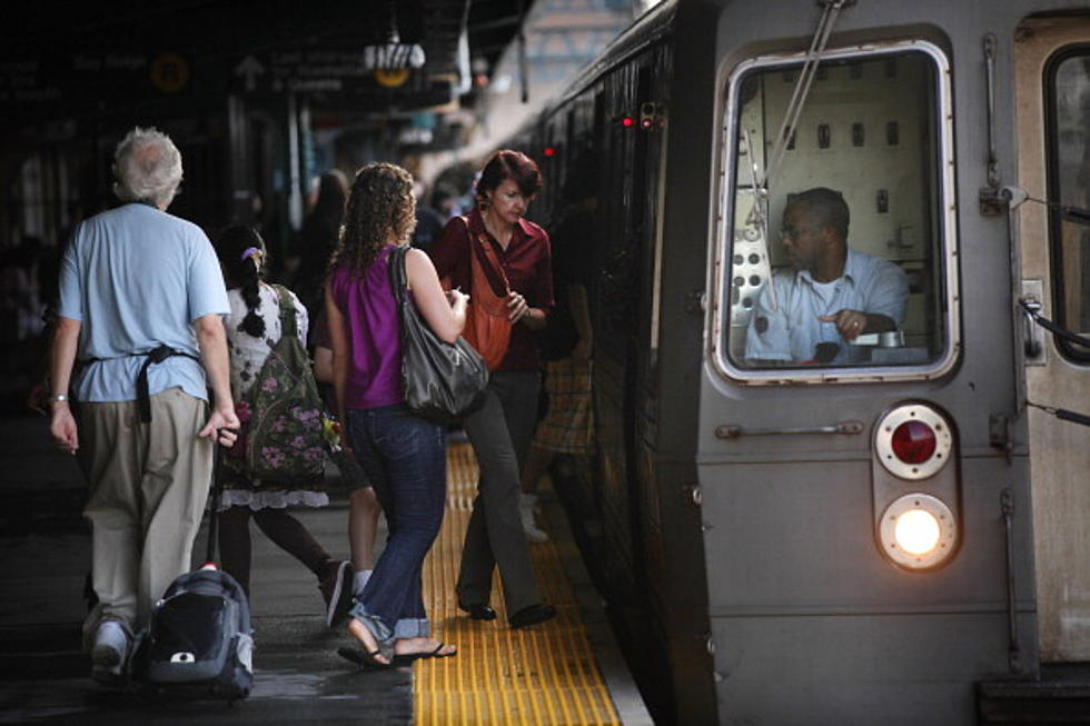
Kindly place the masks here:
<instances>
[{"instance_id":1,"label":"tan train door at the right edge, beside the driver's cab","mask_svg":"<svg viewBox=\"0 0 1090 726\"><path fill-rule=\"evenodd\" d=\"M1090 208L1090 18L1030 19L1014 42L1021 296L1088 335L1090 226L1060 206ZM1038 200L1048 200L1040 203ZM1090 348L1022 319L1042 662L1090 660L1090 428L1034 407L1090 414Z\"/></svg>"}]
</instances>

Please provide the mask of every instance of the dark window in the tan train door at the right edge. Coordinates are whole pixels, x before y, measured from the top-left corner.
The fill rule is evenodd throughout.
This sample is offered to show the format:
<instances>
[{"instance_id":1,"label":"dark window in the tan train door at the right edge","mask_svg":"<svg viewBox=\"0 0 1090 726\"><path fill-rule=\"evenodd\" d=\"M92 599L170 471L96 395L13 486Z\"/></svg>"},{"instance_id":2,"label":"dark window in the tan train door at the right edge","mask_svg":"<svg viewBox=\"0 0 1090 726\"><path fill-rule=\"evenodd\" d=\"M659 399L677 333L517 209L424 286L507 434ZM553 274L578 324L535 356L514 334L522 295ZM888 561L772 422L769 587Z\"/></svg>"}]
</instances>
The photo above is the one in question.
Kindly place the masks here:
<instances>
[{"instance_id":1,"label":"dark window in the tan train door at the right edge","mask_svg":"<svg viewBox=\"0 0 1090 726\"><path fill-rule=\"evenodd\" d=\"M1090 332L1090 48L1049 64L1050 220L1053 308L1057 322ZM1074 210L1072 212L1071 210ZM1081 210L1081 213L1080 211ZM1057 337L1064 356L1090 361L1090 349Z\"/></svg>"}]
</instances>

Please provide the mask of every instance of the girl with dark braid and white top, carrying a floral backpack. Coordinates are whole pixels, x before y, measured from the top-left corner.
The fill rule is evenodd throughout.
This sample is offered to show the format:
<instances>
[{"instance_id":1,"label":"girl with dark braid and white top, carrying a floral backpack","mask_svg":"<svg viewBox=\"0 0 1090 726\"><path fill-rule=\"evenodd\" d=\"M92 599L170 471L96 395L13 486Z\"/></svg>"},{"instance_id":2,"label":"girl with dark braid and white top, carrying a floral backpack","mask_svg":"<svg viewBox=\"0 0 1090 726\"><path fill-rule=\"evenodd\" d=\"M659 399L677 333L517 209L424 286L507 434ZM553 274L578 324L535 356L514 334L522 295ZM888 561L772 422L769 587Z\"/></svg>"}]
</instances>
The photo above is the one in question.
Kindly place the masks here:
<instances>
[{"instance_id":1,"label":"girl with dark braid and white top, carrying a floral backpack","mask_svg":"<svg viewBox=\"0 0 1090 726\"><path fill-rule=\"evenodd\" d=\"M276 288L264 281L265 241L251 227L228 227L216 240L216 253L227 282L231 312L225 321L231 359L231 396L244 430L249 418L246 394L261 370L272 346L280 339L280 311ZM308 316L294 292L296 326L306 339ZM319 475L290 483L255 478L246 470L244 447L222 454L220 480L224 496L219 514L219 549L224 570L249 595L250 519L277 546L303 563L318 578L318 588L329 610L340 598L348 563L335 560L307 528L286 509L288 506L321 507L329 503Z\"/></svg>"}]
</instances>

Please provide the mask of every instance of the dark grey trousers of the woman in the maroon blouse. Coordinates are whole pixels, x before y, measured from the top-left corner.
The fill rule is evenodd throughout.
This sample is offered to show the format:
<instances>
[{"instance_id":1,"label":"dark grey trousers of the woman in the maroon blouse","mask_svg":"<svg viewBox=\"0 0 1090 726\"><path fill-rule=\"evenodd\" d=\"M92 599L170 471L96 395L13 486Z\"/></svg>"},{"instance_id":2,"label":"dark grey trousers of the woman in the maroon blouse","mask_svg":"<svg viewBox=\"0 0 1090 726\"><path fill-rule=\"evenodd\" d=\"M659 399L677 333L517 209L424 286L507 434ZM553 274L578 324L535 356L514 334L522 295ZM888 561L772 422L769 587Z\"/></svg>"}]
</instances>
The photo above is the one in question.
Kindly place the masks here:
<instances>
[{"instance_id":1,"label":"dark grey trousers of the woman in the maroon blouse","mask_svg":"<svg viewBox=\"0 0 1090 726\"><path fill-rule=\"evenodd\" d=\"M493 374L484 407L463 422L480 480L462 550L458 600L488 603L498 566L508 617L542 601L518 515L519 474L537 422L539 389L539 374Z\"/></svg>"}]
</instances>

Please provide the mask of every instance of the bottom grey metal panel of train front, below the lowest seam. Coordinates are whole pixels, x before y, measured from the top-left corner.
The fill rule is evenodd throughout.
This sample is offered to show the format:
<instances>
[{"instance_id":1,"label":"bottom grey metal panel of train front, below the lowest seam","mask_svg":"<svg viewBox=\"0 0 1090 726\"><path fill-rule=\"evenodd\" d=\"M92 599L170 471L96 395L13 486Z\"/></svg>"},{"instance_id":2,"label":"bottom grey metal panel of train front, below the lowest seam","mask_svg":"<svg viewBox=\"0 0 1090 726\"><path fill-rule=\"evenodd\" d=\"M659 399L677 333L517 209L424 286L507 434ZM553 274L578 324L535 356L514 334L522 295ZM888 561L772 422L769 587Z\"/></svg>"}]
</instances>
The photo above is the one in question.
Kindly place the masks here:
<instances>
[{"instance_id":1,"label":"bottom grey metal panel of train front, below the lowest seam","mask_svg":"<svg viewBox=\"0 0 1090 726\"><path fill-rule=\"evenodd\" d=\"M1023 617L1023 630L1033 619ZM967 673L1002 673L1002 614L716 619L721 724L973 724ZM923 640L920 633L928 633ZM970 642L979 652L955 648ZM800 649L800 645L804 645ZM776 674L780 683L769 683Z\"/></svg>"}]
</instances>

